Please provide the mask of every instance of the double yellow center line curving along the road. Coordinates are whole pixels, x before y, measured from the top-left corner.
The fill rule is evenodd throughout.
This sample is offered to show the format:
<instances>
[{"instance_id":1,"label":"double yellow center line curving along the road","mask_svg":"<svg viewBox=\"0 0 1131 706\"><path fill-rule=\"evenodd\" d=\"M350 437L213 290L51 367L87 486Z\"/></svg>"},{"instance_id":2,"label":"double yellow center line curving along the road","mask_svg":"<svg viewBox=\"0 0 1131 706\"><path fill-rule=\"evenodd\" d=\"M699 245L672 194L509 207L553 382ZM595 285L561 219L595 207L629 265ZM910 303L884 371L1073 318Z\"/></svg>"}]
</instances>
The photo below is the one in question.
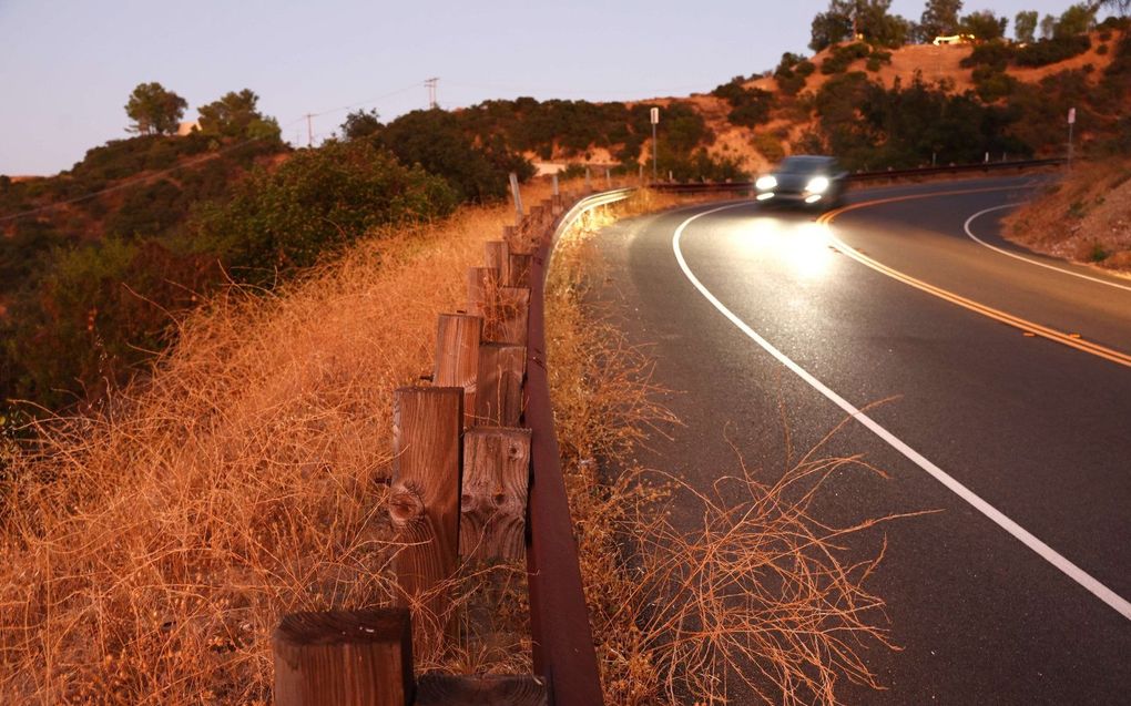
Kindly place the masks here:
<instances>
[{"instance_id":1,"label":"double yellow center line curving along the road","mask_svg":"<svg viewBox=\"0 0 1131 706\"><path fill-rule=\"evenodd\" d=\"M929 199L929 198L934 198L934 197L953 197L953 195L961 195L961 194L968 194L968 193L985 193L985 192L991 192L991 191L1008 191L1008 190L1011 190L1011 189L1013 189L1013 188L995 186L995 188L988 188L988 189L964 189L964 190L957 190L957 191L935 192L935 193L930 193L930 194L910 194L910 195L903 195L903 197L890 197L890 198L887 198L887 199L877 199L874 201L862 201L860 203L852 203L849 206L845 206L845 207L841 207L841 208L828 211L828 212L821 215L821 217L817 219L817 223L822 224L822 225L829 225L829 224L832 223L832 220L835 218L837 218L841 213L846 213L848 211L855 211L855 210L862 209L862 208L870 208L870 207L873 207L873 206L880 206L880 204L883 204L883 203L895 203L897 201L912 201L912 200L915 200L915 199ZM1114 350L1112 348L1107 348L1105 346L1100 346L1099 343L1093 343L1091 341L1083 340L1078 334L1064 333L1063 331L1057 331L1055 329L1050 329L1048 326L1044 326L1042 324L1035 323L1035 322L1029 321L1027 319L1021 319L1020 316L1015 316L1013 314L1003 312L1001 310L993 308L992 306L986 306L985 304L979 304L978 302L975 302L973 299L968 299L966 297L959 296L959 295L955 294L953 291L949 291L947 289L943 289L942 287L935 287L934 285L930 285L927 282L924 282L921 279L915 279L914 277L910 277L909 274L905 274L905 273L903 273L903 272L900 272L900 271L898 271L898 270L896 270L893 268L890 268L890 267L888 267L888 265L886 265L886 264L883 264L881 262L878 262L878 261L873 260L872 258L869 258L864 253L855 250L854 247L852 247L851 245L848 245L847 243L845 243L844 241L841 241L841 239L839 239L839 238L837 238L835 236L834 236L832 239L836 242L837 249L839 249L844 254L848 255L849 258L852 258L853 260L856 260L857 262L860 262L862 264L865 264L865 265L872 268L877 272L881 272L883 274L887 274L888 277L891 277L892 279L897 279L897 280L904 282L905 285L909 285L912 287L915 287L916 289L921 289L921 290L923 290L923 291L925 291L927 294L931 294L931 295L934 295L934 296L939 297L940 299L946 299L947 302L950 302L951 304L957 304L958 306L961 306L962 308L967 308L967 310L969 310L972 312L976 312L978 314L982 314L983 316L988 316L990 319L993 319L994 321L999 321L999 322L1001 322L1003 324L1013 326L1015 329L1019 329L1019 330L1021 330L1022 332L1025 332L1025 333L1027 333L1029 335L1035 335L1035 337L1047 339L1050 341L1055 341L1056 343L1062 343L1062 345L1068 346L1070 348L1074 348L1077 350L1082 350L1083 352L1091 354L1094 356L1099 356L1100 358L1104 358L1105 360L1111 360L1112 363L1115 363L1115 364L1119 364L1119 365L1123 365L1123 366L1126 366L1126 367L1131 367L1131 355L1128 355L1128 354L1119 351L1119 350Z\"/></svg>"}]
</instances>

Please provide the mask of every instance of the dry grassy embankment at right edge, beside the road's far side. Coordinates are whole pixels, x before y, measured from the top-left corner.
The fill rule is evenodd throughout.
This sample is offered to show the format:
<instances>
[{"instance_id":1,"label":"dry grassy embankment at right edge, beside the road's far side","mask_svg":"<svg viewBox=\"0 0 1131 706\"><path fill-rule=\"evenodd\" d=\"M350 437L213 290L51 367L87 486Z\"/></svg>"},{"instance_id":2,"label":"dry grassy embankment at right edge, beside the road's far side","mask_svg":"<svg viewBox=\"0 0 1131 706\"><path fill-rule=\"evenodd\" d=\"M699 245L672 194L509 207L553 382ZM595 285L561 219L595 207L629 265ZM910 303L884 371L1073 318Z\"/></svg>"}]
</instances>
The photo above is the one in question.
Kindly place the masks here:
<instances>
[{"instance_id":1,"label":"dry grassy embankment at right edge, beside the road's far side","mask_svg":"<svg viewBox=\"0 0 1131 706\"><path fill-rule=\"evenodd\" d=\"M1131 273L1131 159L1078 163L1004 224L1037 252Z\"/></svg>"}]
</instances>

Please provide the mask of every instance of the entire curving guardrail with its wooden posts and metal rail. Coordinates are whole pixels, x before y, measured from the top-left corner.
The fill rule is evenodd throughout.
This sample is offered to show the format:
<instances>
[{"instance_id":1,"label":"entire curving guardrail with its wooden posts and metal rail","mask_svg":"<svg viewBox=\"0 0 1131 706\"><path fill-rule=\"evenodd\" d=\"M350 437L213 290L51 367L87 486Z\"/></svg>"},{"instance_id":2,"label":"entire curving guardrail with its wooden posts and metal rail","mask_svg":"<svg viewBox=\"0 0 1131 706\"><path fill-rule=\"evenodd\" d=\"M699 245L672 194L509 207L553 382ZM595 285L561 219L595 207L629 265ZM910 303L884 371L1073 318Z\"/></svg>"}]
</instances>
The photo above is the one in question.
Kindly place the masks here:
<instances>
[{"instance_id":1,"label":"entire curving guardrail with its wooden posts and metal rail","mask_svg":"<svg viewBox=\"0 0 1131 706\"><path fill-rule=\"evenodd\" d=\"M486 267L467 272L466 311L439 316L429 383L392 391L398 607L284 616L271 640L276 704L603 703L550 401L543 293L562 234L631 192L569 210L555 195L484 244ZM524 554L534 673L416 679L414 639L442 651L456 635L450 582L461 561Z\"/></svg>"}]
</instances>

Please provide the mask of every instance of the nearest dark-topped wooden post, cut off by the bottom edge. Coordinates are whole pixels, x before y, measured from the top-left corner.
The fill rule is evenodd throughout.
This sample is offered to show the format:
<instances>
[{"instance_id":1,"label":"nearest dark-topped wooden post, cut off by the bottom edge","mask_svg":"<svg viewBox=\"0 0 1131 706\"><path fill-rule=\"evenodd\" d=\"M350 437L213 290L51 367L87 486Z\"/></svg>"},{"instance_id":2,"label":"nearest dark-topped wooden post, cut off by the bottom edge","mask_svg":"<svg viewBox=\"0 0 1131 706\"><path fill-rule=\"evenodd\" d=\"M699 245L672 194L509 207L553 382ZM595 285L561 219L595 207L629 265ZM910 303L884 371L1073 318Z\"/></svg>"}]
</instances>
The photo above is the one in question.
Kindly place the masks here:
<instances>
[{"instance_id":1,"label":"nearest dark-topped wooden post, cut off by the bottom edge","mask_svg":"<svg viewBox=\"0 0 1131 706\"><path fill-rule=\"evenodd\" d=\"M283 617L271 635L276 706L411 706L412 624L391 608Z\"/></svg>"}]
</instances>

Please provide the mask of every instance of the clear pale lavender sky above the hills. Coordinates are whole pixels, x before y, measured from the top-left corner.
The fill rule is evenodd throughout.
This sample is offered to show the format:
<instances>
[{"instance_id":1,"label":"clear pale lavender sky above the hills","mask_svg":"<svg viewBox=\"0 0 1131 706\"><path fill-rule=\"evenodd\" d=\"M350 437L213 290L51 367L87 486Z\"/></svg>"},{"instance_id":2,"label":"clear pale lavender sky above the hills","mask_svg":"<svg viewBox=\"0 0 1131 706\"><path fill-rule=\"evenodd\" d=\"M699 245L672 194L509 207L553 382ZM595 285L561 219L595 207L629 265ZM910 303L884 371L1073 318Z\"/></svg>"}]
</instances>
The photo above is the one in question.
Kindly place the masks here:
<instances>
[{"instance_id":1,"label":"clear pale lavender sky above the hills","mask_svg":"<svg viewBox=\"0 0 1131 706\"><path fill-rule=\"evenodd\" d=\"M892 11L918 19L920 0ZM1069 0L967 0L1059 15ZM196 107L251 88L283 137L338 129L344 106L390 120L520 95L613 101L707 91L806 52L827 0L0 0L0 174L51 174L127 137L135 86Z\"/></svg>"}]
</instances>

